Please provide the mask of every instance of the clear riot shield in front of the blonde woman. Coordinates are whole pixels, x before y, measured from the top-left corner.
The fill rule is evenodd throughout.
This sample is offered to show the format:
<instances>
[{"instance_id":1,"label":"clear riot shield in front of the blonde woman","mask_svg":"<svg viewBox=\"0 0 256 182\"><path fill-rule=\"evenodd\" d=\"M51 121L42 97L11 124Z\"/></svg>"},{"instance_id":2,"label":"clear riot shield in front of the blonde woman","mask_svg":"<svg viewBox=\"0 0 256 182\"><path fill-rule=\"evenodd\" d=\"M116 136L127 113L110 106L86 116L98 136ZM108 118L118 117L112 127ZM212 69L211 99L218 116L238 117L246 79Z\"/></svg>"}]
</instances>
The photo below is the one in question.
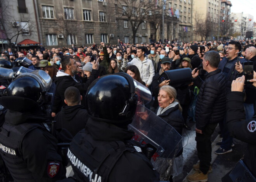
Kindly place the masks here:
<instances>
[{"instance_id":1,"label":"clear riot shield in front of the blonde woman","mask_svg":"<svg viewBox=\"0 0 256 182\"><path fill-rule=\"evenodd\" d=\"M154 147L151 163L159 173L170 165L170 159L175 158L183 147L182 136L170 124L141 104L137 105L135 117L128 127L134 131L135 141Z\"/></svg>"}]
</instances>

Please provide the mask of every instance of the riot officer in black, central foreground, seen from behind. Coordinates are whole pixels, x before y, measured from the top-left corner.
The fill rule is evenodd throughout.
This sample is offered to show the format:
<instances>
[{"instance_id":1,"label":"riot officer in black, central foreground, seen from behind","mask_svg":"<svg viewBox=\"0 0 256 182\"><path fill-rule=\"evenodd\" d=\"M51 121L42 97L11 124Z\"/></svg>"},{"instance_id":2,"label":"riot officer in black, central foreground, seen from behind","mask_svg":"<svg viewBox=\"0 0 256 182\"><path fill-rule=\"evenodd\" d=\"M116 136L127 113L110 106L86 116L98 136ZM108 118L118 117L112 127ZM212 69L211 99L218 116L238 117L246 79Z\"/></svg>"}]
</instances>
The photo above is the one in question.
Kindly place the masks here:
<instances>
[{"instance_id":1,"label":"riot officer in black, central foreground, seen from behind","mask_svg":"<svg viewBox=\"0 0 256 182\"><path fill-rule=\"evenodd\" d=\"M149 91L126 73L106 75L95 80L86 93L90 118L85 129L73 138L67 157L78 181L150 182L159 175L128 130L139 95ZM136 90L136 92L135 92ZM149 92L150 94L150 92Z\"/></svg>"}]
</instances>

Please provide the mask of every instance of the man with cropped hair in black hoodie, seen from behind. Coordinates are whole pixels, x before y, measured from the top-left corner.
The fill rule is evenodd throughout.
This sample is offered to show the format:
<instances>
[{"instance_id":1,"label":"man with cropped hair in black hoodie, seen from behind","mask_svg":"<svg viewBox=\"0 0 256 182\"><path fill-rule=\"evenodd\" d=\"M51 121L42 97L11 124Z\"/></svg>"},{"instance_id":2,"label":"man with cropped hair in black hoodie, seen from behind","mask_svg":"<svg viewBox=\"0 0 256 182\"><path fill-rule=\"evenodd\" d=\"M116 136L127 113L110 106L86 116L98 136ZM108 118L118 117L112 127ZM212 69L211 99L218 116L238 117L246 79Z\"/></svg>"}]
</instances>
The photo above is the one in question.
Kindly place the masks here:
<instances>
[{"instance_id":1,"label":"man with cropped hair in black hoodie, seen from behind","mask_svg":"<svg viewBox=\"0 0 256 182\"><path fill-rule=\"evenodd\" d=\"M74 137L81 129L85 128L88 114L81 105L82 95L76 87L68 87L64 93L65 106L55 116L56 129L64 128Z\"/></svg>"}]
</instances>

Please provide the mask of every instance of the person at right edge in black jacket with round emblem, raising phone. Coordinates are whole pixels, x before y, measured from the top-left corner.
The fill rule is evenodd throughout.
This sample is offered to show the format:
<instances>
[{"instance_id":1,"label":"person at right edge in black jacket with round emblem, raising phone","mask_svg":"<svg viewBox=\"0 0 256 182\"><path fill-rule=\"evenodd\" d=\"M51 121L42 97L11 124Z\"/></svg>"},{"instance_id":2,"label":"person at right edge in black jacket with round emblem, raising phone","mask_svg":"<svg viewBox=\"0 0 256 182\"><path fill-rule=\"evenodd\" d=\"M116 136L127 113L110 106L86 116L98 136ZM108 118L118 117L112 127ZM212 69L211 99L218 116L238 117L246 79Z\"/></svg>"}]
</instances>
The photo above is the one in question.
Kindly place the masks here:
<instances>
[{"instance_id":1,"label":"person at right edge in black jacket with round emblem, raising phone","mask_svg":"<svg viewBox=\"0 0 256 182\"><path fill-rule=\"evenodd\" d=\"M256 73L254 72L253 86L256 87ZM239 77L232 82L231 92L227 95L227 126L230 135L248 143L243 162L256 177L256 116L246 119L244 114L244 81Z\"/></svg>"}]
</instances>

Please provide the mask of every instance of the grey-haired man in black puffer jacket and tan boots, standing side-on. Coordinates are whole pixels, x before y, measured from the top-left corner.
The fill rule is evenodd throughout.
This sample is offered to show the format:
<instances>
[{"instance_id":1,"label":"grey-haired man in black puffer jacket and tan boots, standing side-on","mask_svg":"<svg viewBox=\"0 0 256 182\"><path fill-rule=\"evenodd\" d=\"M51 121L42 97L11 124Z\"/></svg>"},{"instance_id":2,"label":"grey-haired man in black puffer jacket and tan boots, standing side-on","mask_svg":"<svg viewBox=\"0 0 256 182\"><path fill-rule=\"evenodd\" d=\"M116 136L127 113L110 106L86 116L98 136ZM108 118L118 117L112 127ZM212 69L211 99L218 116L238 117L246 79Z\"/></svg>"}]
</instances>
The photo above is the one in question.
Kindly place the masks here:
<instances>
[{"instance_id":1,"label":"grey-haired man in black puffer jacket and tan boots, standing side-on","mask_svg":"<svg viewBox=\"0 0 256 182\"><path fill-rule=\"evenodd\" d=\"M198 70L192 71L192 80L200 88L196 109L196 136L197 156L199 165L193 166L197 171L189 175L189 181L207 181L211 162L211 135L219 121L223 121L226 107L226 81L225 75L218 69L220 55L216 51L204 54L202 65L208 72L205 80L198 76Z\"/></svg>"}]
</instances>

